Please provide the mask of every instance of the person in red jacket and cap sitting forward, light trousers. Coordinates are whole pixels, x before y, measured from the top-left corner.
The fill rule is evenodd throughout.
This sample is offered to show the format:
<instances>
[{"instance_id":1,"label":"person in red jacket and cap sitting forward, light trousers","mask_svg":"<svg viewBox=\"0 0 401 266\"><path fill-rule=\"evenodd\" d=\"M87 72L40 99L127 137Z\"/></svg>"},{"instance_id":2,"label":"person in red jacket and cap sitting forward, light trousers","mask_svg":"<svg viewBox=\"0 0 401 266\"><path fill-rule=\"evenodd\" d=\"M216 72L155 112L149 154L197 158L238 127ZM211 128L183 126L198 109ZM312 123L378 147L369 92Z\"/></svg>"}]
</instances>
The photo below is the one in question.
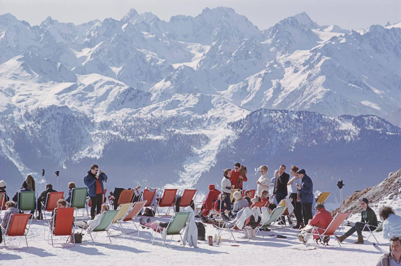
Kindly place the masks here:
<instances>
[{"instance_id":1,"label":"person in red jacket and cap sitting forward, light trousers","mask_svg":"<svg viewBox=\"0 0 401 266\"><path fill-rule=\"evenodd\" d=\"M313 230L313 239L316 240L316 244L318 243L318 239L320 239L320 237L318 236L318 232L319 234L324 233L324 230L327 228L327 226L330 224L330 222L333 220L333 216L331 215L330 212L328 212L325 208L324 205L320 202L316 203L315 205L315 210L316 210L316 214L313 216L312 219L309 220L308 224L310 226L316 226L319 227L321 229L318 229L316 231ZM298 239L306 245L306 241L308 240L309 236L310 236L310 232L312 232L312 229L310 228L310 226L308 227L304 227L306 228L305 230L301 231L301 234L297 234ZM306 234L308 233L308 234ZM324 238L324 241L328 242L328 238Z\"/></svg>"}]
</instances>

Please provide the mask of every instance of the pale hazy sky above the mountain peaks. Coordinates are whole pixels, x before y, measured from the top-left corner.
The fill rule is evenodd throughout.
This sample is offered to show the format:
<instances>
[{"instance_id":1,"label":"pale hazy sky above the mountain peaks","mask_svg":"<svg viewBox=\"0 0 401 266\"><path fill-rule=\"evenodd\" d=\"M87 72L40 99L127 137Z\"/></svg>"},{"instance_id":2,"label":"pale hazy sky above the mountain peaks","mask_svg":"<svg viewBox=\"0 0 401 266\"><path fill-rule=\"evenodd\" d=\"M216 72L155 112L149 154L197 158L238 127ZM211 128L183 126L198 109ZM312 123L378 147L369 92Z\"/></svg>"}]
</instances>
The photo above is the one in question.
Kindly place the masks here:
<instances>
[{"instance_id":1,"label":"pale hazy sky above the mountain peaks","mask_svg":"<svg viewBox=\"0 0 401 266\"><path fill-rule=\"evenodd\" d=\"M401 21L400 0L310 0L310 1L119 1L119 0L0 0L0 14L11 13L32 26L40 24L48 16L59 22L81 24L90 20L122 18L130 8L138 13L152 12L162 20L182 14L197 16L206 7L231 7L246 16L260 30L265 30L279 20L306 12L320 25L336 24L345 29L367 28L373 24L384 26Z\"/></svg>"}]
</instances>

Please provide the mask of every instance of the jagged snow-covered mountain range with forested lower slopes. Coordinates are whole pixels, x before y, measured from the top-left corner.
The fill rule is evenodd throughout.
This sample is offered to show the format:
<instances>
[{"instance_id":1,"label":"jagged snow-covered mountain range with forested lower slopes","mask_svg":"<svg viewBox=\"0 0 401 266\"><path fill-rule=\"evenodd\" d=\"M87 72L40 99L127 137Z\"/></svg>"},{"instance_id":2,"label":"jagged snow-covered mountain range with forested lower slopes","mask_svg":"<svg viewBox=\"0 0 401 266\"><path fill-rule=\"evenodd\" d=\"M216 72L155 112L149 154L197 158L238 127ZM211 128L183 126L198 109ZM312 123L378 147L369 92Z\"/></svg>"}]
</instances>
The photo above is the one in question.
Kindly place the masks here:
<instances>
[{"instance_id":1,"label":"jagged snow-covered mountain range with forested lower slopes","mask_svg":"<svg viewBox=\"0 0 401 266\"><path fill-rule=\"evenodd\" d=\"M236 160L269 171L284 160L334 182L331 169L359 156L350 179L368 164L380 176L395 168L380 164L400 164L400 56L399 24L348 31L306 13L266 30L225 7L168 22L132 9L81 25L4 14L0 179L17 177L16 189L57 168L81 183L95 161L114 176L109 186L205 190ZM347 156L322 160L333 147ZM296 156L301 148L325 170Z\"/></svg>"}]
</instances>

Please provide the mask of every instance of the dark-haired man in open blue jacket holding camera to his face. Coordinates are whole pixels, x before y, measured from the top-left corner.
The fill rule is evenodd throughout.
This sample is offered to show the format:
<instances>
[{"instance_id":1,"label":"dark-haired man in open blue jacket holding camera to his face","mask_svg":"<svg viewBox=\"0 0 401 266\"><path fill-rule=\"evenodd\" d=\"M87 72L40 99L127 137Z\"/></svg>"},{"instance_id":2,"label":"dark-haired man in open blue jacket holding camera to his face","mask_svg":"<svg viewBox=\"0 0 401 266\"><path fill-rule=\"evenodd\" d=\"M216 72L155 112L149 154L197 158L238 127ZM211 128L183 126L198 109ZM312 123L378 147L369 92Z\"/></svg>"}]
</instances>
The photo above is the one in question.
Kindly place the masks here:
<instances>
[{"instance_id":1,"label":"dark-haired man in open blue jacket holding camera to his face","mask_svg":"<svg viewBox=\"0 0 401 266\"><path fill-rule=\"evenodd\" d=\"M88 194L92 201L91 219L100 213L102 198L104 195L103 181L107 180L107 176L103 171L99 171L99 166L92 164L91 170L83 178L83 182L88 187Z\"/></svg>"}]
</instances>

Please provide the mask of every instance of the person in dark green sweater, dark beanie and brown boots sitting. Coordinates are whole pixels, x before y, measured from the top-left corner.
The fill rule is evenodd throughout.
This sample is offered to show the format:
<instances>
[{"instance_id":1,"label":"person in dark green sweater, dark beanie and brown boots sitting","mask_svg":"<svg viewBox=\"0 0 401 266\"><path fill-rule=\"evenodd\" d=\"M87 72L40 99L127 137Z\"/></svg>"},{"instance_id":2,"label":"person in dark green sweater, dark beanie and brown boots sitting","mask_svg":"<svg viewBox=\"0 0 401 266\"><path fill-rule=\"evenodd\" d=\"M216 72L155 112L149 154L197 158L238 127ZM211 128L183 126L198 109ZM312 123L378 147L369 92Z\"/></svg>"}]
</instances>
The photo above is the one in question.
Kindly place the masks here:
<instances>
[{"instance_id":1,"label":"person in dark green sweater, dark beanie and brown boots sitting","mask_svg":"<svg viewBox=\"0 0 401 266\"><path fill-rule=\"evenodd\" d=\"M367 198L359 198L359 202L362 207L360 222L356 222L345 234L335 236L340 243L356 231L358 240L356 240L354 244L363 244L362 229L365 228L363 229L364 231L369 231L370 228L370 230L373 231L377 228L377 216L375 211L368 206L369 200L367 200Z\"/></svg>"}]
</instances>

